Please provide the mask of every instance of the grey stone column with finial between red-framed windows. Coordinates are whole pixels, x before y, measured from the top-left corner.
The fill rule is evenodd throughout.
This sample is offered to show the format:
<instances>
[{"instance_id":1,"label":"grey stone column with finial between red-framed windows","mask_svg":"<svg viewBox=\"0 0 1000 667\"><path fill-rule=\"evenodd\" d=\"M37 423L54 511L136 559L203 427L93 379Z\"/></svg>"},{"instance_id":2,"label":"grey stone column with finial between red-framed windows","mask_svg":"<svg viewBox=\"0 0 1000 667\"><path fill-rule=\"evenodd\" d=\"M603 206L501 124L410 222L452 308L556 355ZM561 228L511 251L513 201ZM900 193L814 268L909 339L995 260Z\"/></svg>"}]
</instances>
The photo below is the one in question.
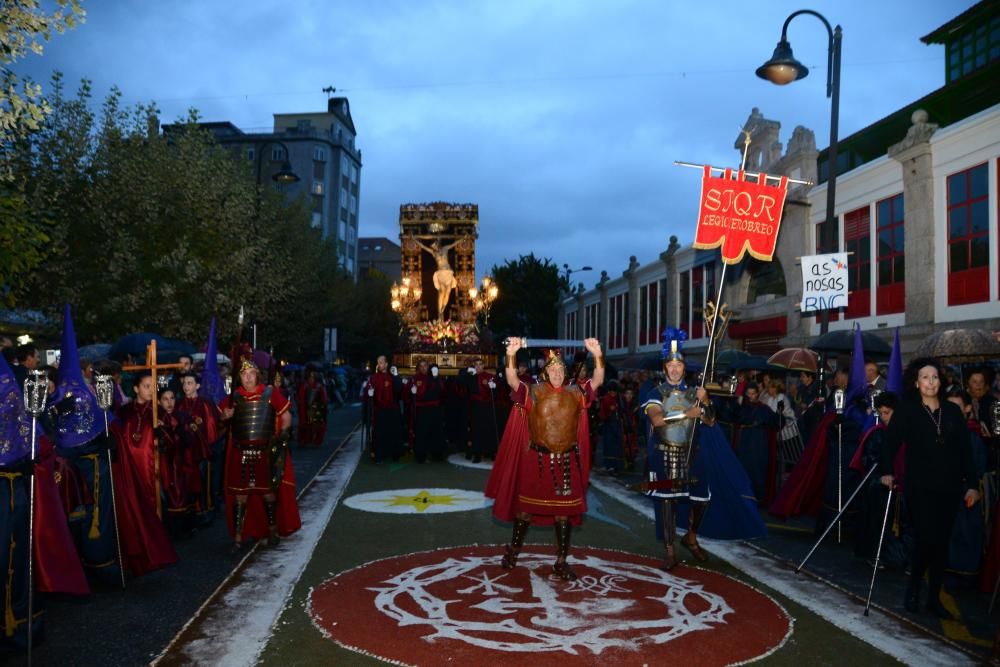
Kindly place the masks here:
<instances>
[{"instance_id":1,"label":"grey stone column with finial between red-framed windows","mask_svg":"<svg viewBox=\"0 0 1000 667\"><path fill-rule=\"evenodd\" d=\"M934 243L943 232L934 224L934 172L930 139L938 126L917 109L906 138L889 147L889 157L903 168L903 215L906 240L906 324L934 321Z\"/></svg>"}]
</instances>

